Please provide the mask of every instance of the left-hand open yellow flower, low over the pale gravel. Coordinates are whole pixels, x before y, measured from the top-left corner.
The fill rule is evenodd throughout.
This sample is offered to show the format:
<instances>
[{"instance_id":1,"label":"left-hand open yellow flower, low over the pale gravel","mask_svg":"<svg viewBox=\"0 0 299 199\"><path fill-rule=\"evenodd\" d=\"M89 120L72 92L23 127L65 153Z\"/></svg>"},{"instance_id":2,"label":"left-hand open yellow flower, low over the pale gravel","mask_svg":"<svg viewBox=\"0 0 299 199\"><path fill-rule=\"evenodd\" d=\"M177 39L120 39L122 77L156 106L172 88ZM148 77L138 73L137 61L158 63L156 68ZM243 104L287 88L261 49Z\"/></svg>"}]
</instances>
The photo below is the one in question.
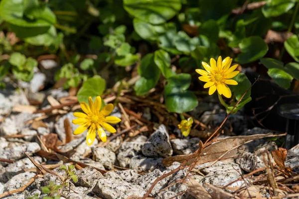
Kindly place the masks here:
<instances>
[{"instance_id":1,"label":"left-hand open yellow flower, low over the pale gravel","mask_svg":"<svg viewBox=\"0 0 299 199\"><path fill-rule=\"evenodd\" d=\"M79 135L83 133L87 128L88 132L86 135L86 142L88 145L91 145L96 138L96 131L100 136L102 142L106 142L107 136L103 128L111 133L115 133L116 130L108 123L118 123L121 121L120 118L115 116L108 116L113 110L113 104L109 103L105 105L102 109L102 99L98 96L93 102L92 98L89 97L88 103L81 102L80 106L83 112L74 112L74 116L78 117L77 119L73 119L74 124L80 125L75 131L74 135ZM108 122L108 123L107 123Z\"/></svg>"}]
</instances>

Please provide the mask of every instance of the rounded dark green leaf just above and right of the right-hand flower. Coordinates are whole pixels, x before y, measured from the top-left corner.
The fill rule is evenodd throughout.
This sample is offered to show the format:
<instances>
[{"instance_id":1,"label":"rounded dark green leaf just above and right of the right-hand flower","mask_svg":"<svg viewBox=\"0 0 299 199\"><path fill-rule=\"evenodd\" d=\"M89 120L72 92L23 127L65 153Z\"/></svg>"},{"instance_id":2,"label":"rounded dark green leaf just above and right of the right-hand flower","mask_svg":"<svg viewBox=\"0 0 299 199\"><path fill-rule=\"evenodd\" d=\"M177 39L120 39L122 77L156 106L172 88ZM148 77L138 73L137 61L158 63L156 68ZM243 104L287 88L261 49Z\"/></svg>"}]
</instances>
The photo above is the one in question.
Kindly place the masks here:
<instances>
[{"instance_id":1,"label":"rounded dark green leaf just above and right of the right-hand flower","mask_svg":"<svg viewBox=\"0 0 299 199\"><path fill-rule=\"evenodd\" d=\"M250 63L256 61L266 55L268 52L268 45L259 36L251 36L243 39L239 44L241 54L235 59L235 61L241 64Z\"/></svg>"}]
</instances>

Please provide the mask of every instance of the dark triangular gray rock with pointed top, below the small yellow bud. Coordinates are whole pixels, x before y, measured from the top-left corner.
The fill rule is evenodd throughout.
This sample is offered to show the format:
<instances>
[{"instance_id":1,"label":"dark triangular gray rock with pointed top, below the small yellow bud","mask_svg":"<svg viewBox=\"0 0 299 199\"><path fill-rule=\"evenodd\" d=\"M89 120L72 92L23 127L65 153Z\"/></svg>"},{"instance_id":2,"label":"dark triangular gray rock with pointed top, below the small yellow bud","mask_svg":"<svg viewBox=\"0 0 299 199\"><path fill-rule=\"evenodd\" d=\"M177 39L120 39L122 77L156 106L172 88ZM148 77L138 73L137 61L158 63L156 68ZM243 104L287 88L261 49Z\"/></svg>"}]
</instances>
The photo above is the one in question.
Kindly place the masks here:
<instances>
[{"instance_id":1,"label":"dark triangular gray rock with pointed top, below the small yellow bud","mask_svg":"<svg viewBox=\"0 0 299 199\"><path fill-rule=\"evenodd\" d=\"M150 135L149 140L142 147L142 153L148 157L168 157L172 155L173 150L165 125L161 124L159 128Z\"/></svg>"}]
</instances>

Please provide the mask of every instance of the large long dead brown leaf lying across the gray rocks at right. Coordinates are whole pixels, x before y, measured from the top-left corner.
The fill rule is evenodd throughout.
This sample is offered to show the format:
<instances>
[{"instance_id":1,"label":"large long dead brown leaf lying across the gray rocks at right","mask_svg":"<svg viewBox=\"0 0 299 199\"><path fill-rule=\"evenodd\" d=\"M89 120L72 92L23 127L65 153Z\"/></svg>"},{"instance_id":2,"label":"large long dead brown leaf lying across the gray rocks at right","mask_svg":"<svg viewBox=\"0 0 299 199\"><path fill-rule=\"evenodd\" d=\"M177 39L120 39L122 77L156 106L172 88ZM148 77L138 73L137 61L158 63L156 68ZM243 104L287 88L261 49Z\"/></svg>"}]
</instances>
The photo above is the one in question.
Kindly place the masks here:
<instances>
[{"instance_id":1,"label":"large long dead brown leaf lying across the gray rocks at right","mask_svg":"<svg viewBox=\"0 0 299 199\"><path fill-rule=\"evenodd\" d=\"M221 141L215 142L207 147L205 147L200 153L200 161L198 164L206 163L211 160L215 160L218 158L233 158L237 155L237 148L243 144L249 143L256 139L261 139L265 137L276 137L276 136L284 136L286 134L273 135L272 133L268 134L257 134L257 135L247 135L247 136L235 136L223 139ZM177 155L172 157L167 157L162 160L162 163L165 166L170 166L173 162L182 163L190 156L190 155ZM195 158L190 159L186 165L190 165L195 161ZM226 162L232 161L231 159L227 159Z\"/></svg>"}]
</instances>

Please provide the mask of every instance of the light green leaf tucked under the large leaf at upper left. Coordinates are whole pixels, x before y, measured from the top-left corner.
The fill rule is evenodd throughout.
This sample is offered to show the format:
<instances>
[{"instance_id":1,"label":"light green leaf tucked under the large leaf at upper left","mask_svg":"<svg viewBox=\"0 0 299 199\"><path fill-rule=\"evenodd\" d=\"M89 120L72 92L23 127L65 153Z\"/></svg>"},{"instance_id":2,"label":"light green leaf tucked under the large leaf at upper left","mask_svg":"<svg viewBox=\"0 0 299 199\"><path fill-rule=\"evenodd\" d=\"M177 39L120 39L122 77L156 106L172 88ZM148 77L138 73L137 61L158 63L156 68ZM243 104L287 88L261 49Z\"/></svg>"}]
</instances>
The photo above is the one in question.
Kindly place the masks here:
<instances>
[{"instance_id":1,"label":"light green leaf tucked under the large leaf at upper left","mask_svg":"<svg viewBox=\"0 0 299 199\"><path fill-rule=\"evenodd\" d=\"M54 42L56 36L56 28L51 25L46 33L33 37L26 37L24 40L35 46L50 46Z\"/></svg>"}]
</instances>

